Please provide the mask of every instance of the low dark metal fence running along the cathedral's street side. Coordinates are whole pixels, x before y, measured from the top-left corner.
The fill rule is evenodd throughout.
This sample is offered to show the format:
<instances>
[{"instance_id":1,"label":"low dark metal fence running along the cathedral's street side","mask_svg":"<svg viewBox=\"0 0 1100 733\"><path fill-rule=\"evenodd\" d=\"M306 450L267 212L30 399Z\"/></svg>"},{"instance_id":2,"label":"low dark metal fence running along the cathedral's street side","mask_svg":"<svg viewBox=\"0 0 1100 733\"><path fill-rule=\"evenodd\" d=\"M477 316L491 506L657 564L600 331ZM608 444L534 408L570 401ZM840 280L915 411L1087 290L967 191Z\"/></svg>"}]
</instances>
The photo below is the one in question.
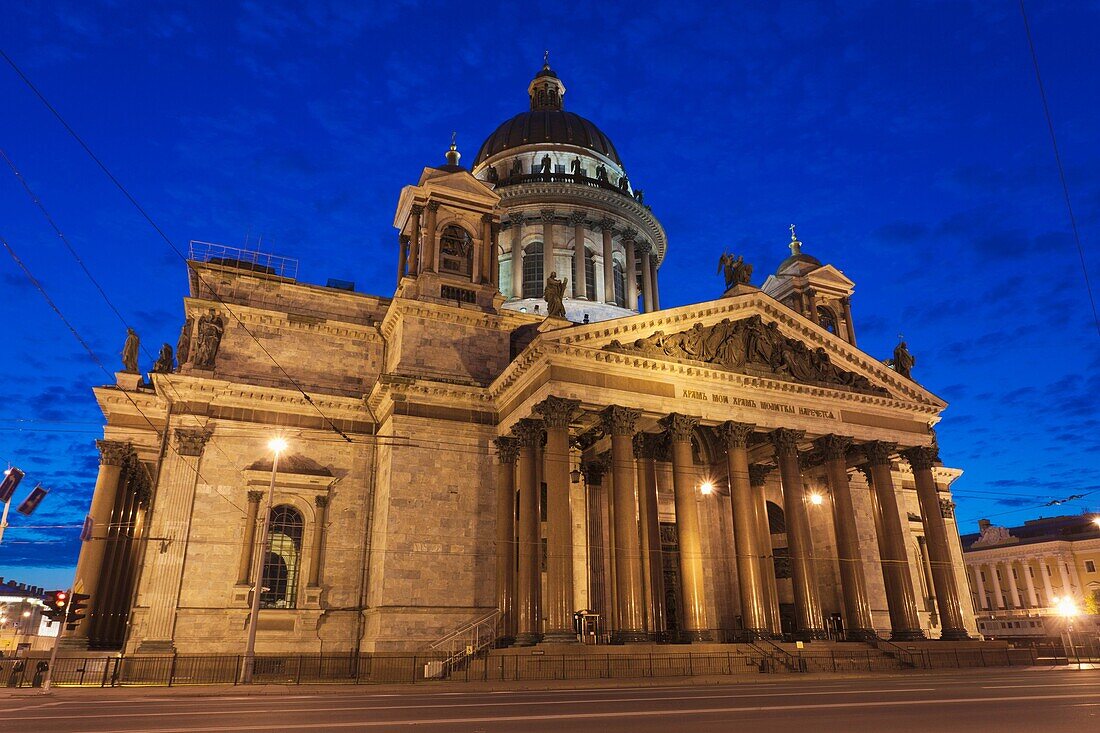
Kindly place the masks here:
<instances>
[{"instance_id":1,"label":"low dark metal fence running along the cathedral's street side","mask_svg":"<svg viewBox=\"0 0 1100 733\"><path fill-rule=\"evenodd\" d=\"M1070 659L1071 661L1072 659ZM58 657L52 683L70 687L237 685L241 656ZM43 658L0 658L0 685L36 687ZM256 685L384 685L425 681L522 681L702 677L768 672L875 672L899 669L1066 664L1035 648L843 649L789 653L745 645L728 652L657 654L257 655Z\"/></svg>"}]
</instances>

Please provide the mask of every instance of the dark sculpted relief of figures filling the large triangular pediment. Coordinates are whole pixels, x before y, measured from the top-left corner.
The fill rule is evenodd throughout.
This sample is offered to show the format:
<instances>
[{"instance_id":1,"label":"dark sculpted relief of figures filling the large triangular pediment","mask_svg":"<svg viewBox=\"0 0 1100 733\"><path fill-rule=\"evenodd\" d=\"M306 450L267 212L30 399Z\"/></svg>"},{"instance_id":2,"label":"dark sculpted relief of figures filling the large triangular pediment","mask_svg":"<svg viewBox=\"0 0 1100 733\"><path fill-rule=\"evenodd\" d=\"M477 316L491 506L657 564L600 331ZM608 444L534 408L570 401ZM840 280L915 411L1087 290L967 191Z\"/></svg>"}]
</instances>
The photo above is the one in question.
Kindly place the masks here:
<instances>
[{"instance_id":1,"label":"dark sculpted relief of figures filling the large triangular pediment","mask_svg":"<svg viewBox=\"0 0 1100 733\"><path fill-rule=\"evenodd\" d=\"M735 372L770 374L795 382L847 387L866 394L890 395L866 376L834 364L825 349L811 349L798 339L788 338L776 321L765 322L759 315L740 320L726 318L713 326L695 324L675 333L657 331L629 343L615 340L604 348L622 353L702 362Z\"/></svg>"}]
</instances>

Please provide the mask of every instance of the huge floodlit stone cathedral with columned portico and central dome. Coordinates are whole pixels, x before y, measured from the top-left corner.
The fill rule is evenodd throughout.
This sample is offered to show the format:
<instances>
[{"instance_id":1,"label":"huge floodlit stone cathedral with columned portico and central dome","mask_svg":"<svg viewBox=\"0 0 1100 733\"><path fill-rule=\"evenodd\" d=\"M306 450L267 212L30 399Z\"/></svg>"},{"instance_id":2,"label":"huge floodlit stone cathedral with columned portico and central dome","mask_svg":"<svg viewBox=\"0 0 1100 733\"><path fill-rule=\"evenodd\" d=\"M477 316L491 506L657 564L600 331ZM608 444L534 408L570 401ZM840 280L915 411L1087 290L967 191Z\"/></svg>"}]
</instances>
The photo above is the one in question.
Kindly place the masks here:
<instances>
[{"instance_id":1,"label":"huge floodlit stone cathedral with columned portico and central dome","mask_svg":"<svg viewBox=\"0 0 1100 733\"><path fill-rule=\"evenodd\" d=\"M400 190L392 294L193 242L175 354L95 389L66 646L241 654L257 581L260 653L977 635L946 404L857 347L855 284L792 227L662 308L615 145L527 91Z\"/></svg>"}]
</instances>

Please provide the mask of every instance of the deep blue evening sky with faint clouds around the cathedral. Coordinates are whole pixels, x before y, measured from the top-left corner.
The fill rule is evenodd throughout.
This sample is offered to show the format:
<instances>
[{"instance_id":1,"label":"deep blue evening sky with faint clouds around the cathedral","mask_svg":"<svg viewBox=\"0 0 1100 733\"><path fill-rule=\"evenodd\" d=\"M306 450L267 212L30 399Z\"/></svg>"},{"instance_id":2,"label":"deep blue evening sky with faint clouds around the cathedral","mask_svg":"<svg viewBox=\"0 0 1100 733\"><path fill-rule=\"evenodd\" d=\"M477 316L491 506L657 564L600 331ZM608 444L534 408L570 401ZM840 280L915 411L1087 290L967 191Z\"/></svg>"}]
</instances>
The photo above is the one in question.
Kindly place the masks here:
<instances>
[{"instance_id":1,"label":"deep blue evening sky with faint clouds around the cathedral","mask_svg":"<svg viewBox=\"0 0 1100 733\"><path fill-rule=\"evenodd\" d=\"M549 48L566 108L612 138L668 230L662 305L717 296L724 249L762 278L794 222L856 282L860 347L887 358L904 333L950 403L964 532L1100 507L1100 337L1015 0L10 6L0 47L177 245L262 234L301 280L385 295L400 187L452 130L469 162ZM1028 12L1088 245L1100 3ZM145 344L174 343L175 254L6 65L0 98L0 146ZM7 166L0 234L117 369L124 328ZM7 254L0 286L0 460L53 488L12 518L0 576L63 587L107 378Z\"/></svg>"}]
</instances>

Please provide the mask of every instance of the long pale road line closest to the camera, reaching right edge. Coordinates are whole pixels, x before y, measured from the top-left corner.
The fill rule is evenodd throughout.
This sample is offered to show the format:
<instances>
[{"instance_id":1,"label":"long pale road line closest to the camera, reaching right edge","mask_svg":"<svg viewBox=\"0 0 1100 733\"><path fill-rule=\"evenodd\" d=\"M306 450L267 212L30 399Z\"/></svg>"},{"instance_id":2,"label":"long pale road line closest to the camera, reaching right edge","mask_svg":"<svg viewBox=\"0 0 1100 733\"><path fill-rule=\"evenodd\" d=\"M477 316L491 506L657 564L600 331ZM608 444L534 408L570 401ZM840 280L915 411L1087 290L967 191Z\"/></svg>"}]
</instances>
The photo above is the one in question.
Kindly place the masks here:
<instances>
[{"instance_id":1,"label":"long pale road line closest to the camera, reaching right edge","mask_svg":"<svg viewBox=\"0 0 1100 733\"><path fill-rule=\"evenodd\" d=\"M507 722L524 722L524 721L548 721L548 720L592 720L596 718L644 718L653 715L706 715L714 713L743 713L743 712L778 712L784 710L835 710L835 709L851 709L851 708L889 708L889 707L912 707L912 705L943 705L943 704L964 704L964 703L981 703L981 702L1020 702L1020 701L1032 701L1032 700L1066 700L1072 698L1091 698L1098 697L1100 692L1079 692L1075 694L1035 694L1035 696L1023 696L1016 698L954 698L954 699L928 699L928 700L870 700L866 702L820 702L820 703L807 703L807 704L794 704L794 705L749 705L749 707L736 707L736 708L697 708L689 710L631 710L622 712L587 712L587 713L556 713L556 714L542 714L542 715L506 715L501 718L450 718L450 719L417 719L417 720L400 720L400 721L354 721L354 722L342 722L342 723L318 723L317 721L311 721L309 723L294 723L287 724L285 722L278 723L278 730L317 730L318 725L323 725L324 729L336 729L336 727L381 727L381 726L410 726L410 725L457 725L465 723L507 723ZM139 729L124 729L116 730L112 733L205 733L213 731L270 731L272 730L272 724L257 724L257 725L235 725L227 726L219 725L217 727L139 727ZM99 729L89 730L87 733L101 733Z\"/></svg>"}]
</instances>

